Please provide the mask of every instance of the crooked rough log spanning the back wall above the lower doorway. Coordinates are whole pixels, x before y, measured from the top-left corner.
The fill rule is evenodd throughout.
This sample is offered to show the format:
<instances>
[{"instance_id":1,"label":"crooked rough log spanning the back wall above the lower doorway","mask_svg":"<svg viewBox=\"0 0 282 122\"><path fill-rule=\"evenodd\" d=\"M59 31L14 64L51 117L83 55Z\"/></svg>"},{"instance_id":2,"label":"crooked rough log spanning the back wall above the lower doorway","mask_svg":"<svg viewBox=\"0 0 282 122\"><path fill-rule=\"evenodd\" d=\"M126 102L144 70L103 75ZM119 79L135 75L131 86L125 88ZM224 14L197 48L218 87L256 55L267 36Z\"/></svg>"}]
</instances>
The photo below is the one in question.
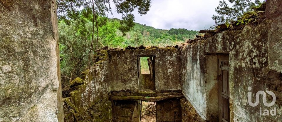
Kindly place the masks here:
<instances>
[{"instance_id":1,"label":"crooked rough log spanning the back wall above the lower doorway","mask_svg":"<svg viewBox=\"0 0 282 122\"><path fill-rule=\"evenodd\" d=\"M112 100L141 100L141 101L150 101L150 102L155 102L155 101L161 101L161 100L166 100L166 99L171 99L171 98L183 98L183 95L169 95L169 96L157 96L157 97L144 97L144 96L125 96L125 97L120 97L120 96L111 96L110 98Z\"/></svg>"}]
</instances>

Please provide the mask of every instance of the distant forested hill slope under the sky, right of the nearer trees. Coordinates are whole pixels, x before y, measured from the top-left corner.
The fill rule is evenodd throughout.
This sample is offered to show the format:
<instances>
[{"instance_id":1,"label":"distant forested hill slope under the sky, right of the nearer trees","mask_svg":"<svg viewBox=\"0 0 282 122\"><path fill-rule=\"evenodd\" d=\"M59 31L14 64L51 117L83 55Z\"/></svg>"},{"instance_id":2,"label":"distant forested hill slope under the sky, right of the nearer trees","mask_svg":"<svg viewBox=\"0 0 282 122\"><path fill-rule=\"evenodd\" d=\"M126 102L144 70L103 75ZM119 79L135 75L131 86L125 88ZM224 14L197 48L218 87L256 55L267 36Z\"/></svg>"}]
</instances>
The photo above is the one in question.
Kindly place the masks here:
<instances>
[{"instance_id":1,"label":"distant forested hill slope under the sky, right of the nearer trees","mask_svg":"<svg viewBox=\"0 0 282 122\"><path fill-rule=\"evenodd\" d=\"M130 46L168 46L181 44L194 39L198 31L187 29L156 29L145 24L135 23L133 29L124 36L125 45Z\"/></svg>"}]
</instances>

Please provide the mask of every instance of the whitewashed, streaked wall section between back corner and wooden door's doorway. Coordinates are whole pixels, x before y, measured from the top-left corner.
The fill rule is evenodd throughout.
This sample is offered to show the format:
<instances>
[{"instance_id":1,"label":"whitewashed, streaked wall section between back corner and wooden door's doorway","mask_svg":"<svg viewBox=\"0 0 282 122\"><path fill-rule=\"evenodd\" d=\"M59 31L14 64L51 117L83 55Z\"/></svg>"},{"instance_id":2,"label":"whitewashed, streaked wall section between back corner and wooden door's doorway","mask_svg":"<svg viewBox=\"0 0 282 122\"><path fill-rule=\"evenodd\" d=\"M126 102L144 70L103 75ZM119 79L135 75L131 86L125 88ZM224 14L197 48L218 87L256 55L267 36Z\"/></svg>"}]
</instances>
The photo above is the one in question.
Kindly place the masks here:
<instances>
[{"instance_id":1,"label":"whitewashed, streaked wall section between back corner and wooden door's doorway","mask_svg":"<svg viewBox=\"0 0 282 122\"><path fill-rule=\"evenodd\" d=\"M204 79L204 54L203 47L194 45L186 46L181 51L182 56L182 92L188 101L194 106L199 115L206 119L207 102ZM202 67L201 67L202 66Z\"/></svg>"}]
</instances>

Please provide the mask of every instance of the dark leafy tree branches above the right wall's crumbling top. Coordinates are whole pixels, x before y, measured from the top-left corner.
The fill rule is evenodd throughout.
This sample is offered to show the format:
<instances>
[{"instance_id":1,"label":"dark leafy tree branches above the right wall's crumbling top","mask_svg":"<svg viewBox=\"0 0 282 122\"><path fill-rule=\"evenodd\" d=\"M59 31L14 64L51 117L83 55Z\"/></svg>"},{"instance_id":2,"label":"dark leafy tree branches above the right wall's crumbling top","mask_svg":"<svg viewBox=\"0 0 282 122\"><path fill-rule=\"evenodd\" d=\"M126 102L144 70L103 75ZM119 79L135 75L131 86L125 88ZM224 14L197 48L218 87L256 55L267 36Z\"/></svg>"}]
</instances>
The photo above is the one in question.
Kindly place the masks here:
<instances>
[{"instance_id":1,"label":"dark leafy tree branches above the right wall's crumbling top","mask_svg":"<svg viewBox=\"0 0 282 122\"><path fill-rule=\"evenodd\" d=\"M263 3L261 0L228 0L232 6L228 6L226 1L219 1L219 5L215 11L218 15L212 15L212 19L218 23L230 23L244 13L251 11L254 6L259 6Z\"/></svg>"}]
</instances>

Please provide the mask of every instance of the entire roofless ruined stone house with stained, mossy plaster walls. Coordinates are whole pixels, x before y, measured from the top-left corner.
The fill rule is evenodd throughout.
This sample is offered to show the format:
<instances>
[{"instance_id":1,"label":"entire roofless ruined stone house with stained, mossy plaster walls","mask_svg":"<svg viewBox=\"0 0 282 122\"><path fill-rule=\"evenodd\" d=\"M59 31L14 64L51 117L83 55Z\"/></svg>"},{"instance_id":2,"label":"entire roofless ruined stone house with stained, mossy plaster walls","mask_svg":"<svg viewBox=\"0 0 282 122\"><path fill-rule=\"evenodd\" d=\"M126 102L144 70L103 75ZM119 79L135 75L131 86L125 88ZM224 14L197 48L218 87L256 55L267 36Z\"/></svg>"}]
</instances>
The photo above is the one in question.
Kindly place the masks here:
<instances>
[{"instance_id":1,"label":"entire roofless ruined stone house with stained, mossy plaster walls","mask_svg":"<svg viewBox=\"0 0 282 122\"><path fill-rule=\"evenodd\" d=\"M63 101L56 1L0 6L0 121L139 122L142 101L156 102L157 122L282 121L280 0L266 1L258 24L191 44L100 49ZM140 72L140 57L148 57L150 74ZM261 95L251 106L258 91L267 92L266 103L274 93L275 103L266 106Z\"/></svg>"}]
</instances>

